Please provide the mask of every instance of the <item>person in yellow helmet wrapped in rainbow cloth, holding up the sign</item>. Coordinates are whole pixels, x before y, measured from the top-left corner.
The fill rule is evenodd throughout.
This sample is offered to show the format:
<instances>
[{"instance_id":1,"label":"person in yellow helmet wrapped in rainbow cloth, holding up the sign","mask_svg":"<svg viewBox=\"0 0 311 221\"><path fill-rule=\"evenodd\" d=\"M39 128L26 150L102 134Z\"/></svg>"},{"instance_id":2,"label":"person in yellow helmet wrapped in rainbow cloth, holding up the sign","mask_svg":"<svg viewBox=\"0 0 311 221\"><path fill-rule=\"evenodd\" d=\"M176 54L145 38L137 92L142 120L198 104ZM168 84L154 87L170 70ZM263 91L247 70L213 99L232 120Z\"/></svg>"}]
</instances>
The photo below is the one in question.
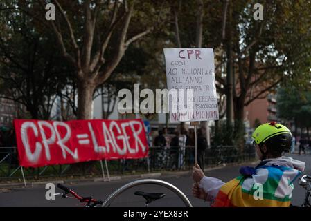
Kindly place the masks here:
<instances>
[{"instance_id":1,"label":"person in yellow helmet wrapped in rainbow cloth, holding up the sign","mask_svg":"<svg viewBox=\"0 0 311 221\"><path fill-rule=\"evenodd\" d=\"M242 166L240 176L229 182L207 177L196 164L193 168L192 193L211 202L211 206L290 206L294 180L304 171L305 163L282 156L290 150L292 133L276 122L262 124L252 135L260 163Z\"/></svg>"}]
</instances>

